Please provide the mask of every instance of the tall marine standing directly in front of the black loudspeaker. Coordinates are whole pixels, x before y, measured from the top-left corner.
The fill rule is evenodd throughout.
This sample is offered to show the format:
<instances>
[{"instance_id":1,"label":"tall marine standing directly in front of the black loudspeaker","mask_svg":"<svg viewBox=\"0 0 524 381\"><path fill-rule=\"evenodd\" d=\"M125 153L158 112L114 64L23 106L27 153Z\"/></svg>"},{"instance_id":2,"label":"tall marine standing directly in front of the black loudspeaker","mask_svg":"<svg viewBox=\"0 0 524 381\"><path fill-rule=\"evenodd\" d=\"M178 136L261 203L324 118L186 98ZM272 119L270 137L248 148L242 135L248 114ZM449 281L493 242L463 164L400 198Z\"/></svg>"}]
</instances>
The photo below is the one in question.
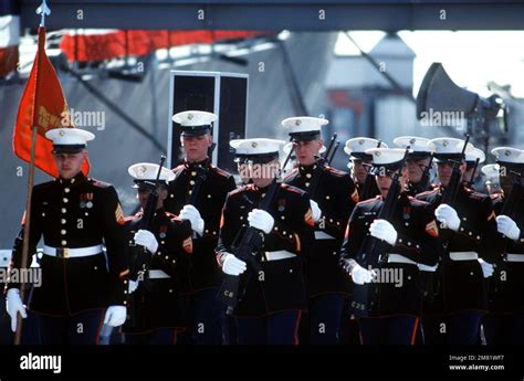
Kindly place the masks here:
<instances>
[{"instance_id":1,"label":"tall marine standing directly in front of the black loudspeaker","mask_svg":"<svg viewBox=\"0 0 524 381\"><path fill-rule=\"evenodd\" d=\"M165 201L166 211L189 220L195 232L193 252L182 281L182 293L192 315L192 340L214 345L223 341L224 321L223 306L217 300L222 276L214 248L226 195L237 188L234 178L213 166L208 157L211 125L217 118L214 114L198 110L172 117L180 124L185 160L172 170L175 180L169 183Z\"/></svg>"}]
</instances>

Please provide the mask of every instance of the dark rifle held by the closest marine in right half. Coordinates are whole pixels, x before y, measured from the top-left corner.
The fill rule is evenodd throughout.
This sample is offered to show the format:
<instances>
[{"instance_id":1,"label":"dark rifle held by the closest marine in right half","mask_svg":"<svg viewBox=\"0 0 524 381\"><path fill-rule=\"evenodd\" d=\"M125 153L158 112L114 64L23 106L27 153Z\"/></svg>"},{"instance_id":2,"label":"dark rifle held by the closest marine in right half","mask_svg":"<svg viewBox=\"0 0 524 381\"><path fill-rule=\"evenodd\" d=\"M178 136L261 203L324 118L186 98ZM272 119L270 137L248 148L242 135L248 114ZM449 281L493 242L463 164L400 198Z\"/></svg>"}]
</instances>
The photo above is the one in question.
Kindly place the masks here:
<instances>
[{"instance_id":1,"label":"dark rifle held by the closest marine in right half","mask_svg":"<svg viewBox=\"0 0 524 381\"><path fill-rule=\"evenodd\" d=\"M406 148L404 161L406 161L409 147ZM402 168L402 167L400 167ZM391 178L391 186L389 187L388 195L384 200L382 208L378 213L377 219L390 221L396 209L400 192L401 169ZM387 261L386 251L389 244L373 235L367 235L357 253L356 261L364 268L368 266L381 266ZM378 297L378 286L369 283L364 285L355 285L352 301L352 311L355 317L368 317L376 304Z\"/></svg>"}]
</instances>

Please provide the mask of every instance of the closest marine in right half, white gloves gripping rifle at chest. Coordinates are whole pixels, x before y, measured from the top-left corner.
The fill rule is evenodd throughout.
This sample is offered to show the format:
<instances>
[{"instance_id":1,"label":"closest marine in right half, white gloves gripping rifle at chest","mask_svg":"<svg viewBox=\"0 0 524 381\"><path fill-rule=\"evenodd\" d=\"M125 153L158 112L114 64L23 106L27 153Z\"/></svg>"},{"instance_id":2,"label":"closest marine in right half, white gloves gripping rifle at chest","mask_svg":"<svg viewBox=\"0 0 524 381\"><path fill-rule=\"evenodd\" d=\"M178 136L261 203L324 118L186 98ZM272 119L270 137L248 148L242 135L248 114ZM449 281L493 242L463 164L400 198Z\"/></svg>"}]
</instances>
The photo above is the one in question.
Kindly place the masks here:
<instances>
[{"instance_id":1,"label":"closest marine in right half, white gloves gripping rifle at chest","mask_svg":"<svg viewBox=\"0 0 524 381\"><path fill-rule=\"evenodd\" d=\"M342 246L340 264L353 282L378 283L378 299L368 317L358 318L364 345L413 345L421 308L419 264L433 266L438 261L438 230L432 207L410 197L405 149L371 148L374 172L381 192L355 207ZM400 197L390 221L378 219L392 183L400 171ZM364 268L358 254L369 235L387 243L380 254L381 266ZM378 265L378 264L377 264Z\"/></svg>"}]
</instances>

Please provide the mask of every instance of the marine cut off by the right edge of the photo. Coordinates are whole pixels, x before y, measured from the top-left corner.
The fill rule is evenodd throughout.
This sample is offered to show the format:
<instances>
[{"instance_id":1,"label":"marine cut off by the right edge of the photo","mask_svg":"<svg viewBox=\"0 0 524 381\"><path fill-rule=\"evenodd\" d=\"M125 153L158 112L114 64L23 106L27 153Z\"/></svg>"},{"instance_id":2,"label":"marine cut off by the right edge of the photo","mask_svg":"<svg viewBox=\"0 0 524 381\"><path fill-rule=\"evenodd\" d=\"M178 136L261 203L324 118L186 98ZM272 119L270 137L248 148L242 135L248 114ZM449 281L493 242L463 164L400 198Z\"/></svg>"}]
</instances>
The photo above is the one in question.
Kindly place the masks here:
<instances>
[{"instance_id":1,"label":"marine cut off by the right edge of the photo","mask_svg":"<svg viewBox=\"0 0 524 381\"><path fill-rule=\"evenodd\" d=\"M507 214L502 209L507 201L515 174L524 174L524 151L512 147L492 150L496 157L503 193L492 197L497 214L497 231L505 248L497 258L495 273L490 279L490 313L484 317L488 345L524 343L524 192L522 181L516 205ZM511 208L511 207L510 207Z\"/></svg>"}]
</instances>

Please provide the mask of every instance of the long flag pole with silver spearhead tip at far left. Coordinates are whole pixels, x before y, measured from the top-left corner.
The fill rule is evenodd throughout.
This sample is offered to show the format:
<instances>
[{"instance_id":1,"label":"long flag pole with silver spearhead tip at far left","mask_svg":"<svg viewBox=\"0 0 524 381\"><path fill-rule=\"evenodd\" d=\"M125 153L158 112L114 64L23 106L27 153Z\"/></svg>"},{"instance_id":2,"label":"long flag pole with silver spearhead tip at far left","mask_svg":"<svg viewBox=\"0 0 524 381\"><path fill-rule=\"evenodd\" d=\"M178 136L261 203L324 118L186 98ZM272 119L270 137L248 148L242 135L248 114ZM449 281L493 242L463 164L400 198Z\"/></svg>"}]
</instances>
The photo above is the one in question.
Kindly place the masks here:
<instances>
[{"instance_id":1,"label":"long flag pole with silver spearhead tip at far left","mask_svg":"<svg viewBox=\"0 0 524 381\"><path fill-rule=\"evenodd\" d=\"M36 9L36 13L41 15L40 27L45 27L45 15L51 13L51 10L48 8L45 0L42 0L42 3ZM39 32L40 38L40 32ZM39 50L44 46L45 42L41 42L39 39ZM38 54L38 60L40 60L40 54ZM36 63L39 64L39 63ZM38 77L36 77L38 78ZM36 81L38 87L38 81ZM35 97L36 98L36 97ZM34 106L34 105L33 105ZM20 268L28 267L28 260L29 260L29 234L30 234L30 225L31 225L31 199L33 197L33 182L34 182L34 158L36 151L36 135L38 135L38 126L34 123L36 118L36 110L33 107L33 126L31 127L31 160L29 161L29 176L28 176L28 198L25 199L25 218L23 224L23 243L22 243L22 263ZM25 283L23 282L24 277L19 276L20 282L20 298L22 303L25 298ZM17 314L17 331L14 332L14 345L19 346L22 339L22 316Z\"/></svg>"}]
</instances>

